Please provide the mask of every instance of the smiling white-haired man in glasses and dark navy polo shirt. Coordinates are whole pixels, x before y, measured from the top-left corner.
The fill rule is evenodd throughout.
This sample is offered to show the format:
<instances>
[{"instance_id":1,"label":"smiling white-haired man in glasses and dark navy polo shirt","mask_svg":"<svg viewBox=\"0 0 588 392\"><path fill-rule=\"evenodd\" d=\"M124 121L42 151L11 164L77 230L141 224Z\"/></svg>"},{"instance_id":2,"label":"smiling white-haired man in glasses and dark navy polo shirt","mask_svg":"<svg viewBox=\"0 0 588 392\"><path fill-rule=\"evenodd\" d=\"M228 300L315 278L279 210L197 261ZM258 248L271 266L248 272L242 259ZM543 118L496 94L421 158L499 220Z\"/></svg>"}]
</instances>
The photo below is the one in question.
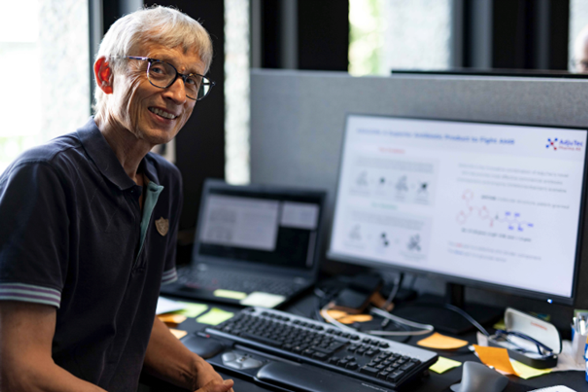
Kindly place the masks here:
<instances>
[{"instance_id":1,"label":"smiling white-haired man in glasses and dark navy polo shirt","mask_svg":"<svg viewBox=\"0 0 588 392\"><path fill-rule=\"evenodd\" d=\"M182 184L149 151L208 94L211 59L208 33L175 9L119 19L94 64L95 117L0 177L0 390L131 391L142 369L232 390L155 317Z\"/></svg>"}]
</instances>

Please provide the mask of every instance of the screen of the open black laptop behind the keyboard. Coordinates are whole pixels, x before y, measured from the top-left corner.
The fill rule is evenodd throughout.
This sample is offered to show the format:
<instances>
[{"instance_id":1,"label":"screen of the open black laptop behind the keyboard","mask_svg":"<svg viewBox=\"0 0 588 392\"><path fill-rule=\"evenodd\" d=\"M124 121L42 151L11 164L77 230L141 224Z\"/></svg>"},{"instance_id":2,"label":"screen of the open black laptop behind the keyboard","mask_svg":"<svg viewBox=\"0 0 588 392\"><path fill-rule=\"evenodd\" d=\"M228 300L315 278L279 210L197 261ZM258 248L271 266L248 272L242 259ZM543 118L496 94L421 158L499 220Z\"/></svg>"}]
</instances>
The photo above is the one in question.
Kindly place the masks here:
<instances>
[{"instance_id":1,"label":"screen of the open black laptop behind the keyboard","mask_svg":"<svg viewBox=\"0 0 588 392\"><path fill-rule=\"evenodd\" d=\"M313 267L323 192L221 184L205 187L198 256Z\"/></svg>"}]
</instances>

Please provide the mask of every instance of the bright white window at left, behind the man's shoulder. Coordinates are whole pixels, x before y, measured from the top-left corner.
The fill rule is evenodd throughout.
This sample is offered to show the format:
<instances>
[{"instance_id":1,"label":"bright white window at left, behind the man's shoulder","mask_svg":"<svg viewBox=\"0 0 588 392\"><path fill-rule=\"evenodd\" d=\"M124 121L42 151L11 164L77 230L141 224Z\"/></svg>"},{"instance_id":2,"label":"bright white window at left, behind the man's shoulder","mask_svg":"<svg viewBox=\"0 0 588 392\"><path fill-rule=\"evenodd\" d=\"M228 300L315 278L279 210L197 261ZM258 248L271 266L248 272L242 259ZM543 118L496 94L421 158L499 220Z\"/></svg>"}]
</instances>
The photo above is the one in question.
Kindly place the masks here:
<instances>
[{"instance_id":1,"label":"bright white window at left, behind the man's shoulder","mask_svg":"<svg viewBox=\"0 0 588 392\"><path fill-rule=\"evenodd\" d=\"M90 115L88 4L19 0L0 13L0 171Z\"/></svg>"}]
</instances>

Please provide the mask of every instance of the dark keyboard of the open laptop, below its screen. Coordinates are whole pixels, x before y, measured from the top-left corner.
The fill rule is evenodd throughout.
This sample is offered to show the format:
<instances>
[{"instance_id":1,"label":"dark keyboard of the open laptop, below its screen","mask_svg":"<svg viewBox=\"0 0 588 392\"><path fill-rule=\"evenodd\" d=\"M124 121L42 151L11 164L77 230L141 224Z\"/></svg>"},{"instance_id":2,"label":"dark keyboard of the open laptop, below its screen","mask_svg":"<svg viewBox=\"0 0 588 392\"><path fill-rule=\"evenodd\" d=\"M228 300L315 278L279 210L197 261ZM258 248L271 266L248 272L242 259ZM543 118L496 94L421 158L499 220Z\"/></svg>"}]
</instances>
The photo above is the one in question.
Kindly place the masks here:
<instances>
[{"instance_id":1,"label":"dark keyboard of the open laptop, below its screen","mask_svg":"<svg viewBox=\"0 0 588 392\"><path fill-rule=\"evenodd\" d=\"M205 290L233 290L243 293L262 291L276 295L295 294L302 284L292 280L268 278L258 274L232 273L219 270L198 270L196 268L182 268L178 271L178 283L191 288Z\"/></svg>"}]
</instances>

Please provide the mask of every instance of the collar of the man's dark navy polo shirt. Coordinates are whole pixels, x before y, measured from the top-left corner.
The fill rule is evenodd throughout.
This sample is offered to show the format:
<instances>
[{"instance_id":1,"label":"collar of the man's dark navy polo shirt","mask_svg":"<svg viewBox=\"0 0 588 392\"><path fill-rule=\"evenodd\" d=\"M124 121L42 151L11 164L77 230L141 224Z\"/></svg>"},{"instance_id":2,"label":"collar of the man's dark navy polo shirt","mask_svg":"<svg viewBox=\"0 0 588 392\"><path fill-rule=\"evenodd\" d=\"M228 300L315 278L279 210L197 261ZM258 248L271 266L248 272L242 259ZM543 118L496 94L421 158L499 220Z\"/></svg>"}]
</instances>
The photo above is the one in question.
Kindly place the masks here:
<instances>
[{"instance_id":1,"label":"collar of the man's dark navy polo shirt","mask_svg":"<svg viewBox=\"0 0 588 392\"><path fill-rule=\"evenodd\" d=\"M86 150L86 153L104 177L121 190L136 186L135 181L131 180L131 177L126 174L121 162L119 162L116 154L106 142L93 117L90 117L88 122L77 130L77 134L84 150ZM143 168L149 181L159 184L155 167L150 160L143 158L139 166Z\"/></svg>"}]
</instances>

